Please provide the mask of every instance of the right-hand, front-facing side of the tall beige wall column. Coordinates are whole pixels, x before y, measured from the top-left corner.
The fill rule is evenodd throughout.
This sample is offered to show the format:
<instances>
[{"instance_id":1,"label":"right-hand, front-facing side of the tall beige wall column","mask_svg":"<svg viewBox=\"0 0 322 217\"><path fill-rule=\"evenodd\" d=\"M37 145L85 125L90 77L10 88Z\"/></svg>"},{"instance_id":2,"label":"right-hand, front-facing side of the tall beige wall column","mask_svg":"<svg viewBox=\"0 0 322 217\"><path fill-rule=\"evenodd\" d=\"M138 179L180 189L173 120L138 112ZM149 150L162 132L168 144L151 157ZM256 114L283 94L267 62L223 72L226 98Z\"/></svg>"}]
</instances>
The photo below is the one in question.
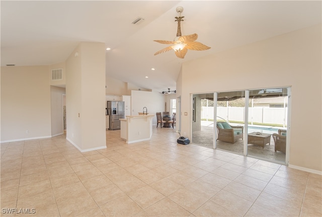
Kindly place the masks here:
<instances>
[{"instance_id":1,"label":"right-hand, front-facing side of the tall beige wall column","mask_svg":"<svg viewBox=\"0 0 322 217\"><path fill-rule=\"evenodd\" d=\"M82 149L106 148L104 43L82 43Z\"/></svg>"}]
</instances>

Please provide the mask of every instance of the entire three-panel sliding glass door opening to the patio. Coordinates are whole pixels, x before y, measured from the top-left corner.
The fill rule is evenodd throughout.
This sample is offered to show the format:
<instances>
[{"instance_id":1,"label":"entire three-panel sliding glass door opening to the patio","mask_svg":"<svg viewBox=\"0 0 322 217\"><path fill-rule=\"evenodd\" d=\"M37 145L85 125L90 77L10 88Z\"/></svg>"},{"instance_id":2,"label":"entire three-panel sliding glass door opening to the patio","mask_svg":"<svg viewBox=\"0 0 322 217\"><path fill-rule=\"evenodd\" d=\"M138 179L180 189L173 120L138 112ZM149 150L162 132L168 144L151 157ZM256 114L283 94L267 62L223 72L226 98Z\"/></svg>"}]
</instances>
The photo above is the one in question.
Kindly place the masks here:
<instances>
[{"instance_id":1,"label":"entire three-panel sliding glass door opening to the patio","mask_svg":"<svg viewBox=\"0 0 322 217\"><path fill-rule=\"evenodd\" d=\"M289 101L290 87L193 94L192 143L287 163Z\"/></svg>"}]
</instances>

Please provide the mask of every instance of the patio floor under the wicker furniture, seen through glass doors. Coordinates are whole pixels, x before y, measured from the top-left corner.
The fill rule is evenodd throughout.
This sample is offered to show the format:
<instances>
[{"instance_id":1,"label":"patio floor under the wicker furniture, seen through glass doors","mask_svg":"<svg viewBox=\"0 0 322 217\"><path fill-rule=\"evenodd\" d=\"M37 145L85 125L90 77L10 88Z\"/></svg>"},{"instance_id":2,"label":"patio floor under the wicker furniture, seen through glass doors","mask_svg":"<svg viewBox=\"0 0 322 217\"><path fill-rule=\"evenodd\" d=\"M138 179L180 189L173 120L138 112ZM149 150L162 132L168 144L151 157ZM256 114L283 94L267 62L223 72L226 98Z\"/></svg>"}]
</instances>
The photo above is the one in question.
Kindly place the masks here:
<instances>
[{"instance_id":1,"label":"patio floor under the wicker furniture, seen through glass doors","mask_svg":"<svg viewBox=\"0 0 322 217\"><path fill-rule=\"evenodd\" d=\"M206 125L206 126L205 126ZM208 125L208 126L207 126ZM213 147L213 127L208 123L203 123L201 131L194 131L192 133L192 143L196 145ZM248 155L260 157L273 161L281 161L285 163L285 154L282 152L275 152L274 140L271 137L270 145L265 145L264 149L261 146L248 144ZM234 144L217 141L217 149L237 153L243 155L244 153L244 140L238 140Z\"/></svg>"}]
</instances>

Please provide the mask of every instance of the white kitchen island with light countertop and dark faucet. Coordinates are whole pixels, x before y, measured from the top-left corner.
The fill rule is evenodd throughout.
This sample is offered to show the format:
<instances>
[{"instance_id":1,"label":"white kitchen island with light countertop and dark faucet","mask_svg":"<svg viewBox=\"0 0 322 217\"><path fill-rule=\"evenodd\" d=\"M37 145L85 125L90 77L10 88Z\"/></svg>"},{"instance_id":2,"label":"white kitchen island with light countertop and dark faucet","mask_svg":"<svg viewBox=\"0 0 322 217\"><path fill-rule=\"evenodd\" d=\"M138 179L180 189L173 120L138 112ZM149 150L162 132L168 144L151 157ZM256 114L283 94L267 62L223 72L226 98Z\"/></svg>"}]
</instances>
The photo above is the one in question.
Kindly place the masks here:
<instances>
[{"instance_id":1,"label":"white kitchen island with light countertop and dark faucet","mask_svg":"<svg viewBox=\"0 0 322 217\"><path fill-rule=\"evenodd\" d=\"M121 138L127 144L150 140L152 119L155 114L126 116L121 121Z\"/></svg>"}]
</instances>

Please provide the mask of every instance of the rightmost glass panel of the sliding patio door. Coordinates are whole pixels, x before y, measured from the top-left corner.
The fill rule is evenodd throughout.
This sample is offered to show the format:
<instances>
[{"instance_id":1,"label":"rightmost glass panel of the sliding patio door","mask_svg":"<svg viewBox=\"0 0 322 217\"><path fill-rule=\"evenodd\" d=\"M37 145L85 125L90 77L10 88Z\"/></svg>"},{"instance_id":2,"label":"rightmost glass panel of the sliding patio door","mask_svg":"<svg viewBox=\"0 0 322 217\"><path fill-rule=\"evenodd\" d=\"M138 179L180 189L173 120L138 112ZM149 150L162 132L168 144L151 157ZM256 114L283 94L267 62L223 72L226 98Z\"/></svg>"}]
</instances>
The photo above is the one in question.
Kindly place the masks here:
<instances>
[{"instance_id":1,"label":"rightmost glass panel of the sliding patio door","mask_svg":"<svg viewBox=\"0 0 322 217\"><path fill-rule=\"evenodd\" d=\"M285 162L287 99L287 88L249 91L249 156Z\"/></svg>"}]
</instances>

